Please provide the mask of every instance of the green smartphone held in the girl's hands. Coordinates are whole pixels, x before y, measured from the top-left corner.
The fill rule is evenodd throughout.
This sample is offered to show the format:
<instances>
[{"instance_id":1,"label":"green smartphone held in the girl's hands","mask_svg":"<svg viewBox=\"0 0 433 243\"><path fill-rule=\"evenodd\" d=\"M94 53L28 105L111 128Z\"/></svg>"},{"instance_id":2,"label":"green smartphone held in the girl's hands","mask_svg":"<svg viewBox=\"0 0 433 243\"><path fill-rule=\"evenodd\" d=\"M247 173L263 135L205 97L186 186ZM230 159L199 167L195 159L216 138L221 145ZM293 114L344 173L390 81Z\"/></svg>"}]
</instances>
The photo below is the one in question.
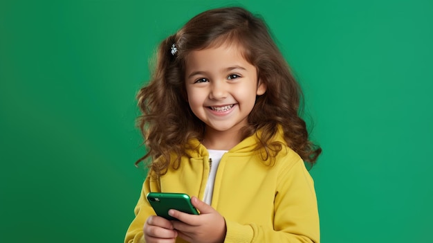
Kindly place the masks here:
<instances>
[{"instance_id":1,"label":"green smartphone held in the girl's hands","mask_svg":"<svg viewBox=\"0 0 433 243\"><path fill-rule=\"evenodd\" d=\"M185 193L149 192L147 201L154 208L156 215L168 220L178 220L168 215L168 210L176 209L183 213L199 215L199 211L191 204L190 196Z\"/></svg>"}]
</instances>

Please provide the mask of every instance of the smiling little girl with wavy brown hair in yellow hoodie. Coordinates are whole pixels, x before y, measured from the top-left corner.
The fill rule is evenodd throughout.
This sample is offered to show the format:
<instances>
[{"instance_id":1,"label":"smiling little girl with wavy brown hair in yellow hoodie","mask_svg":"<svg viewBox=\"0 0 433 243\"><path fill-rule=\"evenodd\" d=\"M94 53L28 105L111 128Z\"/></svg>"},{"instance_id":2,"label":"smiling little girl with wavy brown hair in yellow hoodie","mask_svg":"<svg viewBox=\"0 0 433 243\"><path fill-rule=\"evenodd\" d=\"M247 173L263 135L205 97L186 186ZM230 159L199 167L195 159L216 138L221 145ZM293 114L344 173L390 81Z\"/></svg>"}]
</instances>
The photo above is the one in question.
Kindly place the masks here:
<instances>
[{"instance_id":1,"label":"smiling little girl with wavy brown hair in yellow hoodie","mask_svg":"<svg viewBox=\"0 0 433 243\"><path fill-rule=\"evenodd\" d=\"M302 93L263 20L208 10L159 46L140 89L150 161L125 242L320 242ZM155 215L148 192L192 196L200 215Z\"/></svg>"}]
</instances>

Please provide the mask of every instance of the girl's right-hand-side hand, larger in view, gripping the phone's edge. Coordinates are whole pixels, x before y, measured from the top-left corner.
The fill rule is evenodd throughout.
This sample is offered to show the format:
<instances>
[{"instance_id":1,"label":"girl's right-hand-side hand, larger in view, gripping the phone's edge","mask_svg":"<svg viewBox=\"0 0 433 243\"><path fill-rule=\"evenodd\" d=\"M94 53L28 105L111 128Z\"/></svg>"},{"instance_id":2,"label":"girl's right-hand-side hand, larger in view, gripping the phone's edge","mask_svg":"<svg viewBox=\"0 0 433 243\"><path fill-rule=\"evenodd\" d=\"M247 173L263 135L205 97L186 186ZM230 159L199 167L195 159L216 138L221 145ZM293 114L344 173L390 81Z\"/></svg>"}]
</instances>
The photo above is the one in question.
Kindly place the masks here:
<instances>
[{"instance_id":1,"label":"girl's right-hand-side hand, larger in view, gripping the phone's edge","mask_svg":"<svg viewBox=\"0 0 433 243\"><path fill-rule=\"evenodd\" d=\"M192 205L200 211L200 215L190 215L170 209L169 215L180 221L172 221L178 236L191 243L219 243L225 238L225 220L214 208L191 198Z\"/></svg>"}]
</instances>

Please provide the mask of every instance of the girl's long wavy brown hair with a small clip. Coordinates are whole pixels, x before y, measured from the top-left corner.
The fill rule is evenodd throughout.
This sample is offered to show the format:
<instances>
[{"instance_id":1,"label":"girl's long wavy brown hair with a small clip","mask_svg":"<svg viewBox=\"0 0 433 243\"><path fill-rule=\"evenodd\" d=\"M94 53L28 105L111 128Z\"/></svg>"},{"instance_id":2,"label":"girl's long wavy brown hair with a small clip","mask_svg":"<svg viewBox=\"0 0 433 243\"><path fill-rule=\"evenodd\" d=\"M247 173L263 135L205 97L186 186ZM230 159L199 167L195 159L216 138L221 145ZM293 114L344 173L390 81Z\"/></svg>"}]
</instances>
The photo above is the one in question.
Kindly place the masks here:
<instances>
[{"instance_id":1,"label":"girl's long wavy brown hair with a small clip","mask_svg":"<svg viewBox=\"0 0 433 243\"><path fill-rule=\"evenodd\" d=\"M157 175L167 172L171 161L178 168L185 145L191 138L203 138L205 124L190 109L185 89L185 63L192 51L222 44L236 44L266 92L257 96L255 107L243 127L243 138L261 130L257 150L268 161L282 150L282 144L271 142L279 127L286 145L309 165L317 160L321 148L308 140L306 123L300 117L302 91L261 17L243 8L218 8L196 15L177 33L158 47L156 66L149 84L138 92L138 127L145 138L147 153L140 161L149 161ZM175 154L176 158L172 158Z\"/></svg>"}]
</instances>

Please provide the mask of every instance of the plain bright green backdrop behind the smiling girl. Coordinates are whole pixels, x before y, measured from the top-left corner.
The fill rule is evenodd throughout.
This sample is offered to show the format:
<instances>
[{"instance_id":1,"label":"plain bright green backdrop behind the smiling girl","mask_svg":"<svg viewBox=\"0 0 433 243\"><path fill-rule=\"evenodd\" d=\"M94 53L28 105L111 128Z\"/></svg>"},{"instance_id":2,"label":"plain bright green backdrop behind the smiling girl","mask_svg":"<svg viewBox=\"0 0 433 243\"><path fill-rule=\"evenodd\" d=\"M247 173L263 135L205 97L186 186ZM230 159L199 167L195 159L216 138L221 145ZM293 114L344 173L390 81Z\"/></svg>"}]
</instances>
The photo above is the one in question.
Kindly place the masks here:
<instances>
[{"instance_id":1,"label":"plain bright green backdrop behind the smiling girl","mask_svg":"<svg viewBox=\"0 0 433 243\"><path fill-rule=\"evenodd\" d=\"M149 57L228 5L266 19L304 89L322 242L431 240L432 1L2 0L0 242L122 242Z\"/></svg>"}]
</instances>

